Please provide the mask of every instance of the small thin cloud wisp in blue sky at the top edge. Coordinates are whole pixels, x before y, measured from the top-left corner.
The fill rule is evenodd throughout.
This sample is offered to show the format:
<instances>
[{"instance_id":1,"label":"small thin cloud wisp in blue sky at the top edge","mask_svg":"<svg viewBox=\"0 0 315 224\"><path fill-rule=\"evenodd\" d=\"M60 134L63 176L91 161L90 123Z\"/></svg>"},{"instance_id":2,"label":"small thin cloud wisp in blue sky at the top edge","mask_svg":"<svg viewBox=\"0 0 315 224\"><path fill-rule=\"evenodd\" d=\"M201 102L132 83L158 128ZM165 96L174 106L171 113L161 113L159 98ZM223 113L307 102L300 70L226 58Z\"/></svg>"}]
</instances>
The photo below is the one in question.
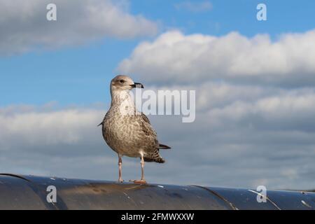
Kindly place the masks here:
<instances>
[{"instance_id":1,"label":"small thin cloud wisp in blue sky at the top edge","mask_svg":"<svg viewBox=\"0 0 315 224\"><path fill-rule=\"evenodd\" d=\"M176 3L174 6L177 10L188 10L193 13L200 13L212 9L210 1L182 1Z\"/></svg>"}]
</instances>

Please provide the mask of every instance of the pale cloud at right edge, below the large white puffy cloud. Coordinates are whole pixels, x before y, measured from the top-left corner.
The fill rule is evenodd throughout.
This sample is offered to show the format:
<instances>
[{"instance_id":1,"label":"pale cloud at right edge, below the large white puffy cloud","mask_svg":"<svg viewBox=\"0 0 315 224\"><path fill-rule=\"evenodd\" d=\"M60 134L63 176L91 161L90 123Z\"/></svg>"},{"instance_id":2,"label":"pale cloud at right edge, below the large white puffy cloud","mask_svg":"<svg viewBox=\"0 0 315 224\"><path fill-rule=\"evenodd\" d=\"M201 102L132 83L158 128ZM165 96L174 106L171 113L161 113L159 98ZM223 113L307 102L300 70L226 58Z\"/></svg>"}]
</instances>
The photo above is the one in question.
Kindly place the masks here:
<instances>
[{"instance_id":1,"label":"pale cloud at right edge, below the large white puffy cloud","mask_svg":"<svg viewBox=\"0 0 315 224\"><path fill-rule=\"evenodd\" d=\"M315 91L292 90L255 101L239 99L208 111L209 122L262 130L315 132Z\"/></svg>"}]
</instances>

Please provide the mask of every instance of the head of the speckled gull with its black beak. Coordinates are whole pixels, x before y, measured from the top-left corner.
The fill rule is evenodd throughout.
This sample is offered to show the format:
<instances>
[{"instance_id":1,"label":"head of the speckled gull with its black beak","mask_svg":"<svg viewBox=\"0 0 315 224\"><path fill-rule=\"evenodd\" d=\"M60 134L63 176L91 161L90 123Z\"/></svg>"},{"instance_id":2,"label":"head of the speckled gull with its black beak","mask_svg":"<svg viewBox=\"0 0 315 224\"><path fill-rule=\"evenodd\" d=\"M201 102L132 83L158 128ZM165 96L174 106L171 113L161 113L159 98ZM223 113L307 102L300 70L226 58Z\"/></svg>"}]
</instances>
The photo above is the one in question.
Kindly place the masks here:
<instances>
[{"instance_id":1,"label":"head of the speckled gull with its black beak","mask_svg":"<svg viewBox=\"0 0 315 224\"><path fill-rule=\"evenodd\" d=\"M111 91L132 90L133 88L144 88L141 83L134 83L129 76L119 75L111 80Z\"/></svg>"}]
</instances>

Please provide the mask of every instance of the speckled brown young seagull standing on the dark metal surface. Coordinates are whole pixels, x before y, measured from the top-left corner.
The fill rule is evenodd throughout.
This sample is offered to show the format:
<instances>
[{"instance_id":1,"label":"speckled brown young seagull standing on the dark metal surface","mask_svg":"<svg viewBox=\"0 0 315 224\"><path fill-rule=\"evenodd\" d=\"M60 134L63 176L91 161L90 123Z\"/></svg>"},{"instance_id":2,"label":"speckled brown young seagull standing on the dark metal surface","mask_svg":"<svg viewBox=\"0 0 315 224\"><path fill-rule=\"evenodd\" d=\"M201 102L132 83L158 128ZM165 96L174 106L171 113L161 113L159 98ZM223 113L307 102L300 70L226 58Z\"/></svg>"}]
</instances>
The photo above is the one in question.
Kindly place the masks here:
<instances>
[{"instance_id":1,"label":"speckled brown young seagull standing on the dark metal surface","mask_svg":"<svg viewBox=\"0 0 315 224\"><path fill-rule=\"evenodd\" d=\"M159 144L150 120L137 111L129 93L135 87L144 88L144 85L134 83L129 76L118 75L111 80L111 107L99 125L106 144L118 154L118 182L123 183L122 157L126 155L141 159L141 179L130 181L146 184L144 162L164 163L159 150L170 147Z\"/></svg>"}]
</instances>

